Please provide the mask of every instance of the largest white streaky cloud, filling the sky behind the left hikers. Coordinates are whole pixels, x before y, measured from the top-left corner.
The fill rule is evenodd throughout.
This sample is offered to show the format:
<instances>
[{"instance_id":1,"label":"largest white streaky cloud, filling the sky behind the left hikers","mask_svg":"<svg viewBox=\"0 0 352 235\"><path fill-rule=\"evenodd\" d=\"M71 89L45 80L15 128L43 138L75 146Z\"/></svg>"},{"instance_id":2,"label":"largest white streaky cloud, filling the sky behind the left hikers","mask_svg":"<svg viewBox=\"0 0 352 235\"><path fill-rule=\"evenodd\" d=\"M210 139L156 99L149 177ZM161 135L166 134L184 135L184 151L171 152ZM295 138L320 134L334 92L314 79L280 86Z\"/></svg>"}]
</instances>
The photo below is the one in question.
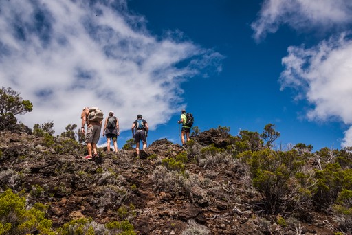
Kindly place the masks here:
<instances>
[{"instance_id":1,"label":"largest white streaky cloud, filling the sky behind the left hikers","mask_svg":"<svg viewBox=\"0 0 352 235\"><path fill-rule=\"evenodd\" d=\"M87 2L0 3L0 82L33 102L32 113L18 117L30 128L54 121L60 134L80 126L83 107L98 106L115 112L122 131L138 113L153 129L184 107L180 82L221 70L220 54L149 34L126 1Z\"/></svg>"}]
</instances>

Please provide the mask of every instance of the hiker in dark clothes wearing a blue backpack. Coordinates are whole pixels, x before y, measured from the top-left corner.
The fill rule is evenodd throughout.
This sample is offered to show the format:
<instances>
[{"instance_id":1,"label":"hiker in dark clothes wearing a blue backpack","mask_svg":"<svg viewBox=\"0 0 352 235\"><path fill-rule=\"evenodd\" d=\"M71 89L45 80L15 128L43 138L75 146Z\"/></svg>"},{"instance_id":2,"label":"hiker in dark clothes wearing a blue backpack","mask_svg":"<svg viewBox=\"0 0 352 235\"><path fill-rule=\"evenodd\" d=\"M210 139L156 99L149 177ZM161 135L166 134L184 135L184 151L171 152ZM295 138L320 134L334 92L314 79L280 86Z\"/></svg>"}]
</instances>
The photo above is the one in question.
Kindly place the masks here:
<instances>
[{"instance_id":1,"label":"hiker in dark clothes wearing a blue backpack","mask_svg":"<svg viewBox=\"0 0 352 235\"><path fill-rule=\"evenodd\" d=\"M135 152L137 153L137 157L140 156L140 141L142 140L143 149L142 152L146 153L146 137L148 137L148 123L143 119L142 115L137 115L137 120L135 120L132 124L132 135L135 139Z\"/></svg>"}]
</instances>

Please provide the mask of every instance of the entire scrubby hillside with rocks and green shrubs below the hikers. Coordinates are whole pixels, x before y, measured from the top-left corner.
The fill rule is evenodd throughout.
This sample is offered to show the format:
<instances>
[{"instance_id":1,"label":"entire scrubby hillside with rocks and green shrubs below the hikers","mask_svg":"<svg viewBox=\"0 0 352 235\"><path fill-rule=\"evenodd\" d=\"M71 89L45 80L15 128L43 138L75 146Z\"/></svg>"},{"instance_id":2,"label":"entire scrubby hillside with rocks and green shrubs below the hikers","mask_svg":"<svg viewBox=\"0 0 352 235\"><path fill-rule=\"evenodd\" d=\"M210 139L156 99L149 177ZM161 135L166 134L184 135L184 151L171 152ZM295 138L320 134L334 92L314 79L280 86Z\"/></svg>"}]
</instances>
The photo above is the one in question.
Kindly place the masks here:
<instances>
[{"instance_id":1,"label":"entire scrubby hillside with rocks and green shrubs below the hikers","mask_svg":"<svg viewBox=\"0 0 352 235\"><path fill-rule=\"evenodd\" d=\"M258 140L219 127L88 161L73 139L3 131L0 234L351 233L349 152Z\"/></svg>"}]
</instances>

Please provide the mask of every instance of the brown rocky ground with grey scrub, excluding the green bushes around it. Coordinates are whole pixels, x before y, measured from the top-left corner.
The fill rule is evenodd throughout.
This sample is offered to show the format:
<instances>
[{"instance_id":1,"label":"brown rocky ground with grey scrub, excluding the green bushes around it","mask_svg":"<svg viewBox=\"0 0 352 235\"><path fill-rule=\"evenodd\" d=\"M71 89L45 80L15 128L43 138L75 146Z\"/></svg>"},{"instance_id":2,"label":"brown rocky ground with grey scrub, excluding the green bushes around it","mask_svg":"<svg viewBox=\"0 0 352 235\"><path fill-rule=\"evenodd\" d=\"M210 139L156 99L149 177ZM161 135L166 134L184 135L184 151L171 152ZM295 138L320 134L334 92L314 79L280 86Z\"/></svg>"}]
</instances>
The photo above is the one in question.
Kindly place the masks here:
<instances>
[{"instance_id":1,"label":"brown rocky ground with grey scrub, excluding the green bushes around it","mask_svg":"<svg viewBox=\"0 0 352 235\"><path fill-rule=\"evenodd\" d=\"M100 150L101 159L89 161L82 159L85 146L63 150L45 146L43 137L1 132L1 192L25 190L29 205L49 205L54 228L91 217L102 224L127 219L137 234L338 232L327 212L265 214L248 169L229 153L202 150L225 146L224 136L212 130L194 140L186 148L158 140L145 159L133 150ZM165 167L163 159L180 156L187 157L184 169ZM278 223L280 216L286 225Z\"/></svg>"}]
</instances>

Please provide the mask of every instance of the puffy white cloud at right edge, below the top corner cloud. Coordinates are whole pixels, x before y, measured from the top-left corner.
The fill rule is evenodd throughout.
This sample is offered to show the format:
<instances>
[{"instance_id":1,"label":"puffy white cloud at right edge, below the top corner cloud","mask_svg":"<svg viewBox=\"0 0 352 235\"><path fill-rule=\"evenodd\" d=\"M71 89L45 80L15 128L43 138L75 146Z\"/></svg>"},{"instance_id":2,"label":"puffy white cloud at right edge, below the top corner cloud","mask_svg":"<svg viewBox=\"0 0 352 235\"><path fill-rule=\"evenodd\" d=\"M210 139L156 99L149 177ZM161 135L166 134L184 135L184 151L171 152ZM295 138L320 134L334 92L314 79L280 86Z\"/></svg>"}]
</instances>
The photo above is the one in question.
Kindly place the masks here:
<instances>
[{"instance_id":1,"label":"puffy white cloud at right edge, below the top corner cloud","mask_svg":"<svg viewBox=\"0 0 352 235\"><path fill-rule=\"evenodd\" d=\"M352 124L352 40L341 34L322 41L311 48L289 47L283 58L285 71L281 74L281 89L297 89L299 98L305 98L313 109L310 120L327 121L338 118ZM352 146L351 129L347 131L343 146Z\"/></svg>"}]
</instances>

